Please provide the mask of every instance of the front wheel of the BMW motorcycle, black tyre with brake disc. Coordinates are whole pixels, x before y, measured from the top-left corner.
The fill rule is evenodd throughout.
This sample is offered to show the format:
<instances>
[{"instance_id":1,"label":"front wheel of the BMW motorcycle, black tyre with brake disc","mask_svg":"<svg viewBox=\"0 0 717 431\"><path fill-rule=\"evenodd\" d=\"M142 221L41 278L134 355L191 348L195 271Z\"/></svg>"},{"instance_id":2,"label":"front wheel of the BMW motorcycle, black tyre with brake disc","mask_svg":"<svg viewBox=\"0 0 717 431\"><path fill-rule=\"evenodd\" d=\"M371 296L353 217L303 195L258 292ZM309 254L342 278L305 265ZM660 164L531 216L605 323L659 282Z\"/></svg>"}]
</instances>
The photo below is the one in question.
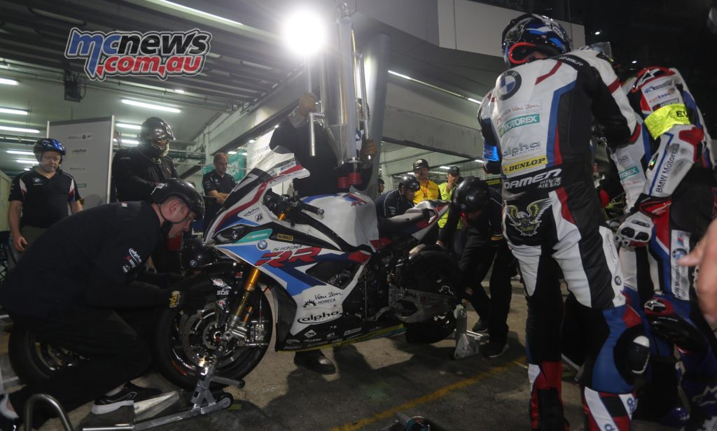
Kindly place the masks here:
<instances>
[{"instance_id":1,"label":"front wheel of the BMW motorcycle, black tyre with brake disc","mask_svg":"<svg viewBox=\"0 0 717 431\"><path fill-rule=\"evenodd\" d=\"M222 312L214 304L209 304L194 315L169 309L158 314L153 343L154 364L169 382L183 389L194 389L203 360L214 354L219 346L223 329L217 327L217 322L221 321L221 316L217 313ZM244 346L233 339L218 359L215 372L217 377L241 379L264 357L271 340L274 321L269 301L264 294L260 306L255 308L253 314L250 321L250 338L260 341L261 345ZM212 389L223 386L212 384Z\"/></svg>"}]
</instances>

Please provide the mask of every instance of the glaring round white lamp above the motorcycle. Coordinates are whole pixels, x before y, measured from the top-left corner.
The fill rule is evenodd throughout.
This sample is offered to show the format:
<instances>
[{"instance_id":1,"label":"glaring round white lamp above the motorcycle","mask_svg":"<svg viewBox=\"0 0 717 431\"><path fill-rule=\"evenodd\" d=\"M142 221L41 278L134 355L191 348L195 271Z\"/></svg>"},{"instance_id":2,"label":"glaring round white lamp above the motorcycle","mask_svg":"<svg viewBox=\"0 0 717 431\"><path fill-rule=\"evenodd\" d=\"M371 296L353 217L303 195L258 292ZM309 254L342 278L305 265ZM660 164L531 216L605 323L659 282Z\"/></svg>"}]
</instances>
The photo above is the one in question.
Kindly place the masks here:
<instances>
[{"instance_id":1,"label":"glaring round white lamp above the motorcycle","mask_svg":"<svg viewBox=\"0 0 717 431\"><path fill-rule=\"evenodd\" d=\"M285 19L282 35L293 54L311 57L326 43L326 23L315 11L300 9Z\"/></svg>"}]
</instances>

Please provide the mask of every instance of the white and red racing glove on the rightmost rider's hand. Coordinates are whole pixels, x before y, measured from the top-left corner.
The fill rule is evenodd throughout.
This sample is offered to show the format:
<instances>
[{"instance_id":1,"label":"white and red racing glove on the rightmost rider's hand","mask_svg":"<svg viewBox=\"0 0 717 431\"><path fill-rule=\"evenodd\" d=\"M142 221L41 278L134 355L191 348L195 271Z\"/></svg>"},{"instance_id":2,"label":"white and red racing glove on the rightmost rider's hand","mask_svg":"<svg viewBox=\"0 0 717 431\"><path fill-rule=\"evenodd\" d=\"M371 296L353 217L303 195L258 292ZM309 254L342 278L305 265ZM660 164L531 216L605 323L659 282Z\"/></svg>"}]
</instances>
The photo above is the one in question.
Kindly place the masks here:
<instances>
[{"instance_id":1,"label":"white and red racing glove on the rightmost rider's hand","mask_svg":"<svg viewBox=\"0 0 717 431\"><path fill-rule=\"evenodd\" d=\"M665 214L670 208L670 198L655 198L644 193L637 198L625 221L617 228L615 243L619 247L644 247L652 238L655 218Z\"/></svg>"}]
</instances>

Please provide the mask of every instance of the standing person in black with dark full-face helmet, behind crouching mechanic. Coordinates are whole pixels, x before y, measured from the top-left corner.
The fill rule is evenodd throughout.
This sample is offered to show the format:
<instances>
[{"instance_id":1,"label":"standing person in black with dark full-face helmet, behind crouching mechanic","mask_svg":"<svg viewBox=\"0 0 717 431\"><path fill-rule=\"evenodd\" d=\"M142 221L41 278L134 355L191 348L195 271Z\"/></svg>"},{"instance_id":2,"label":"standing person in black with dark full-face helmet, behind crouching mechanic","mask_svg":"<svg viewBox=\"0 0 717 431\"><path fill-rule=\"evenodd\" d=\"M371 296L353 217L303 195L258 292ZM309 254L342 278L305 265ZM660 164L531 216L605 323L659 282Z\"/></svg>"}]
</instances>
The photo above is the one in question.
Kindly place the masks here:
<instances>
[{"instance_id":1,"label":"standing person in black with dark full-face helmet, behind crouching mechanic","mask_svg":"<svg viewBox=\"0 0 717 431\"><path fill-rule=\"evenodd\" d=\"M112 160L112 181L120 202L150 200L157 185L179 177L174 162L167 157L174 133L164 120L149 117L137 139L139 145L119 150ZM168 250L166 243L156 248L152 262L159 272L181 272L179 251Z\"/></svg>"}]
</instances>

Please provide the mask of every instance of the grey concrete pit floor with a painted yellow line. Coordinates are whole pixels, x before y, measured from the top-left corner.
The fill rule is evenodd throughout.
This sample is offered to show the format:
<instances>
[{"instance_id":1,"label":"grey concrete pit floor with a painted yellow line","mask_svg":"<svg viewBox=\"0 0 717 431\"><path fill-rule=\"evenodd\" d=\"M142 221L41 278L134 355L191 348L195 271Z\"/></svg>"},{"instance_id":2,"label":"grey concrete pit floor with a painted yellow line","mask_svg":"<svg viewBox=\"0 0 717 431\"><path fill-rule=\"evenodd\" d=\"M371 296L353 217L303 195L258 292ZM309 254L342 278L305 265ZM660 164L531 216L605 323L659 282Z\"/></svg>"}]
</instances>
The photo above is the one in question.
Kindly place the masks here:
<instances>
[{"instance_id":1,"label":"grey concrete pit floor with a painted yellow line","mask_svg":"<svg viewBox=\"0 0 717 431\"><path fill-rule=\"evenodd\" d=\"M424 346L407 344L399 335L326 349L326 356L338 368L336 374L327 376L296 367L293 354L270 349L245 379L244 389L229 389L234 404L228 410L161 429L378 431L391 427L394 415L402 412L425 416L445 430L529 430L525 317L523 289L514 283L508 316L510 349L495 359L454 360L452 339ZM468 319L470 328L477 319L475 312L469 311ZM581 430L579 390L572 377L566 368L565 415L571 429ZM174 389L158 374L135 382ZM123 410L95 417L89 415L88 404L72 412L70 420L75 425L126 422L130 409ZM633 429L663 428L635 423ZM62 426L52 420L41 430L62 430Z\"/></svg>"}]
</instances>

